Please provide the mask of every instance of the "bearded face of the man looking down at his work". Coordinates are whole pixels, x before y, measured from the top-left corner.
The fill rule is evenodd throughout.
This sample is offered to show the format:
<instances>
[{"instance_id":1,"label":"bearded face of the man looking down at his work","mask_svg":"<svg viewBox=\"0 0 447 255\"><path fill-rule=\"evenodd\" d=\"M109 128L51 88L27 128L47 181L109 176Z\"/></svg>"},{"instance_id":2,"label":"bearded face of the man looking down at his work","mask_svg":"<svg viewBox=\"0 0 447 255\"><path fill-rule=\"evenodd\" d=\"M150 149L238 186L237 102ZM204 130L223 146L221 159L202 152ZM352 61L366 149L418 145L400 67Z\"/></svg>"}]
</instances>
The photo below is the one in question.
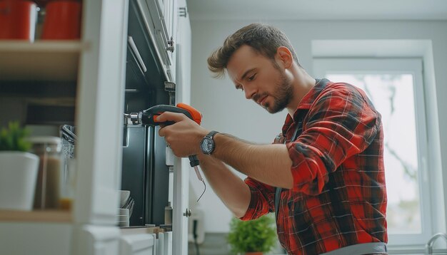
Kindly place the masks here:
<instances>
[{"instance_id":1,"label":"bearded face of the man looking down at his work","mask_svg":"<svg viewBox=\"0 0 447 255\"><path fill-rule=\"evenodd\" d=\"M250 46L238 48L226 66L237 89L269 113L287 107L293 97L291 80L276 62L254 51Z\"/></svg>"}]
</instances>

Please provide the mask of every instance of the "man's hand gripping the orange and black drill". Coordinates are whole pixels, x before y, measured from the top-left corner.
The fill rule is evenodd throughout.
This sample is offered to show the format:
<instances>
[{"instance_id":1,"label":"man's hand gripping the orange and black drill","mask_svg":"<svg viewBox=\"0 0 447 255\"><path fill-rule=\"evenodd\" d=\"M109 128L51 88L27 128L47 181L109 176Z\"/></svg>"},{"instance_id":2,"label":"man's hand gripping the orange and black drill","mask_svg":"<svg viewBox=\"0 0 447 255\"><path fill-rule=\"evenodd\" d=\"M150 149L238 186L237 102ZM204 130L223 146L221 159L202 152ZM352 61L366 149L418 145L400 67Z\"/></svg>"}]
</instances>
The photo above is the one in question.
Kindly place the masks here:
<instances>
[{"instance_id":1,"label":"man's hand gripping the orange and black drill","mask_svg":"<svg viewBox=\"0 0 447 255\"><path fill-rule=\"evenodd\" d=\"M161 127L159 135L164 137L174 155L188 157L201 153L200 142L209 133L194 120L181 113L165 112L156 118L157 122L174 121L172 125Z\"/></svg>"}]
</instances>

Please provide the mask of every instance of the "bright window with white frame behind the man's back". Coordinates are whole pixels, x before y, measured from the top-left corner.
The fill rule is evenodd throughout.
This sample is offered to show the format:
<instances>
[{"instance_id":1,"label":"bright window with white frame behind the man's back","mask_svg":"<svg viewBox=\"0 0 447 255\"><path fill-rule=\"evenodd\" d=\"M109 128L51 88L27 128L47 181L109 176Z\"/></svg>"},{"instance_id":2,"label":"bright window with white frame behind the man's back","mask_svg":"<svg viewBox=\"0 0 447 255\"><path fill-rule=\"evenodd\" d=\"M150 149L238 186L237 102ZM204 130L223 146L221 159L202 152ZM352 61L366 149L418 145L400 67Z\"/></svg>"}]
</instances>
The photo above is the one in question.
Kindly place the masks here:
<instances>
[{"instance_id":1,"label":"bright window with white frame behind the man's back","mask_svg":"<svg viewBox=\"0 0 447 255\"><path fill-rule=\"evenodd\" d=\"M317 78L351 83L382 115L390 245L426 244L431 236L422 61L413 58L318 58Z\"/></svg>"}]
</instances>

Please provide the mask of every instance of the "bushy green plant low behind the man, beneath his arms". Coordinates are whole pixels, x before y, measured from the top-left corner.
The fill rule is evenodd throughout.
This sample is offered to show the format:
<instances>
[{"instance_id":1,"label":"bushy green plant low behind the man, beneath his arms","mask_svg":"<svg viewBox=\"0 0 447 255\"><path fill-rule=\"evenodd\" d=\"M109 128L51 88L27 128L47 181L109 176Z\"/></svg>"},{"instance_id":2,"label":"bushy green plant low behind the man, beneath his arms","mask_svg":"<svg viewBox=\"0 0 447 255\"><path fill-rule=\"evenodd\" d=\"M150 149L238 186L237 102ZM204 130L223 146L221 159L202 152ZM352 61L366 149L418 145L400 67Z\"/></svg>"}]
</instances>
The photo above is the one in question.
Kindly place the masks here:
<instances>
[{"instance_id":1,"label":"bushy green plant low behind the man, beneath his arms","mask_svg":"<svg viewBox=\"0 0 447 255\"><path fill-rule=\"evenodd\" d=\"M271 251L276 239L274 219L271 215L264 215L251 221L231 219L228 244L233 253L263 254Z\"/></svg>"}]
</instances>

